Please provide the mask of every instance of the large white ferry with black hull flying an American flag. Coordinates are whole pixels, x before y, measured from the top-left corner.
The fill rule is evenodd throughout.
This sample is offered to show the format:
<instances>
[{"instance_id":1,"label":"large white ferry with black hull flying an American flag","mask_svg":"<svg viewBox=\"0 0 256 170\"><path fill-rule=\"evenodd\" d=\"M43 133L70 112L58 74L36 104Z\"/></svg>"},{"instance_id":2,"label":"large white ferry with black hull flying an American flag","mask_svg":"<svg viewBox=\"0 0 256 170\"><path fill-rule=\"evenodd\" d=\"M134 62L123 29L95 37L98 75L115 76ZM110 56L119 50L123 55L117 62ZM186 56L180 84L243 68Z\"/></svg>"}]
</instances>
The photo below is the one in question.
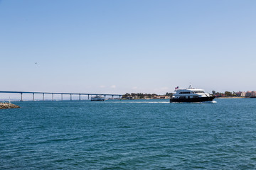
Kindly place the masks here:
<instances>
[{"instance_id":1,"label":"large white ferry with black hull flying an American flag","mask_svg":"<svg viewBox=\"0 0 256 170\"><path fill-rule=\"evenodd\" d=\"M203 89L192 88L190 85L188 89L175 88L175 94L170 98L170 102L206 102L213 101L215 96L206 93Z\"/></svg>"}]
</instances>

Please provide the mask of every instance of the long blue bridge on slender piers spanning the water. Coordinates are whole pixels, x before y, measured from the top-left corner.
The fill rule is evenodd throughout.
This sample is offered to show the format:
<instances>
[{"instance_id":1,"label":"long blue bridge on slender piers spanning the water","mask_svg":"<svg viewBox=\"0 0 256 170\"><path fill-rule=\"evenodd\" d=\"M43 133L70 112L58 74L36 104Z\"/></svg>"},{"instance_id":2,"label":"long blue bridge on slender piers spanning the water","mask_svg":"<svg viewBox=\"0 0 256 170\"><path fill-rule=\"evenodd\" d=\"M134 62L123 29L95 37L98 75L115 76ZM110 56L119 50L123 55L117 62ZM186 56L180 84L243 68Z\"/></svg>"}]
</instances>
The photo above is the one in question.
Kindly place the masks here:
<instances>
[{"instance_id":1,"label":"long blue bridge on slender piers spanning the water","mask_svg":"<svg viewBox=\"0 0 256 170\"><path fill-rule=\"evenodd\" d=\"M63 95L70 95L70 101L72 101L72 95L78 95L79 96L79 101L81 100L81 96L88 96L88 100L90 98L90 96L104 96L106 98L106 96L112 96L112 98L114 98L114 96L119 96L119 98L121 99L121 97L123 96L122 94L73 94L73 93L53 93L53 92L33 92L33 91L0 91L0 94L21 94L21 101L23 101L23 94L33 94L33 98L32 101L35 101L35 94L42 94L43 96L43 101L45 101L45 94L52 94L52 101L54 100L54 95L55 94L60 94L61 95L61 101L63 101Z\"/></svg>"}]
</instances>

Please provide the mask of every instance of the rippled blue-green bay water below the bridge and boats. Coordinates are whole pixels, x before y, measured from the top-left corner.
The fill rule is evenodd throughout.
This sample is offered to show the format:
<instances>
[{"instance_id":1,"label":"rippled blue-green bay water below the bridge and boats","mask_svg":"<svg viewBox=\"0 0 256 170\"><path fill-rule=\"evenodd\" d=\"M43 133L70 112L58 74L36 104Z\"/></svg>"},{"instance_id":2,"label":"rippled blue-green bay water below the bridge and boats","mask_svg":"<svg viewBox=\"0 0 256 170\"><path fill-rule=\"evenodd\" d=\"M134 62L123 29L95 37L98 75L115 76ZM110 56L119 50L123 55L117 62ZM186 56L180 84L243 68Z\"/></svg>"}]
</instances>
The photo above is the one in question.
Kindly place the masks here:
<instances>
[{"instance_id":1,"label":"rippled blue-green bay water below the bridge and boats","mask_svg":"<svg viewBox=\"0 0 256 170\"><path fill-rule=\"evenodd\" d=\"M256 169L256 98L16 102L0 169Z\"/></svg>"}]
</instances>

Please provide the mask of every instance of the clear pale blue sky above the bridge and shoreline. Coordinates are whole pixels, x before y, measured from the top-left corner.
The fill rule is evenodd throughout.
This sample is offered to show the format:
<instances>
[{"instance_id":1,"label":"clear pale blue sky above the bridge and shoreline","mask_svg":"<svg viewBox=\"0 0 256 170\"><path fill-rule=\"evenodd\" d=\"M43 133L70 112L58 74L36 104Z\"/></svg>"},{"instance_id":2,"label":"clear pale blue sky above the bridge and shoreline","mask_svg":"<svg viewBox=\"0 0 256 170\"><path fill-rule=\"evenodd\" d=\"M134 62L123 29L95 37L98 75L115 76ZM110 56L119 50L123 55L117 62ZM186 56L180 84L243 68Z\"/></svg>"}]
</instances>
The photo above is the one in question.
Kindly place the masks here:
<instances>
[{"instance_id":1,"label":"clear pale blue sky above the bridge and shoreline","mask_svg":"<svg viewBox=\"0 0 256 170\"><path fill-rule=\"evenodd\" d=\"M255 0L2 0L0 90L256 90L255 9Z\"/></svg>"}]
</instances>

